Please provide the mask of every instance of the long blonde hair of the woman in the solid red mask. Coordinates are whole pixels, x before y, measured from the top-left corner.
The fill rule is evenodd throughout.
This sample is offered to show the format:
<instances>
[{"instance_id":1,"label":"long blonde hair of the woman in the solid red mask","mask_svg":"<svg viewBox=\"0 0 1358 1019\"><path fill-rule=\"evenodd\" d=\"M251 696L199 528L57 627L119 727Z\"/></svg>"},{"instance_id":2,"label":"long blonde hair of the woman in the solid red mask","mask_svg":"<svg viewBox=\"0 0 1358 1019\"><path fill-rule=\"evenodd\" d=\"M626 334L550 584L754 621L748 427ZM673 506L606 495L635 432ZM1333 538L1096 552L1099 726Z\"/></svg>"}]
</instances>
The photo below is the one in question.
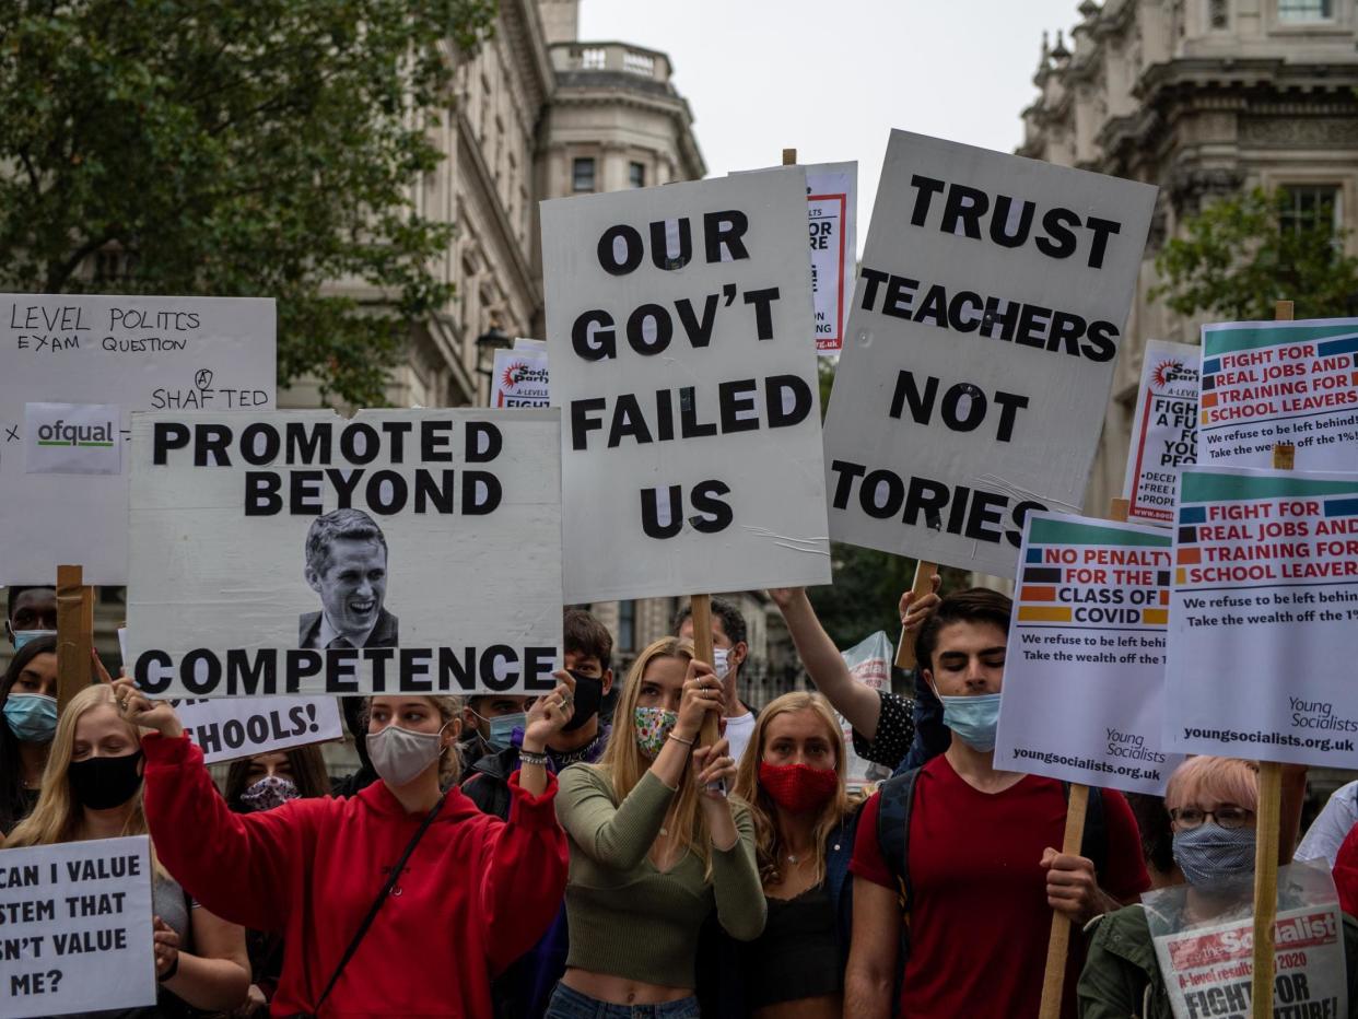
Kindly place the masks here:
<instances>
[{"instance_id":1,"label":"long blonde hair of the woman in the solid red mask","mask_svg":"<svg viewBox=\"0 0 1358 1019\"><path fill-rule=\"evenodd\" d=\"M782 883L784 874L779 864L786 856L782 845L782 832L778 827L778 806L773 798L759 784L759 762L763 759L765 739L769 724L779 715L809 711L816 715L816 720L826 727L830 746L835 749L835 795L820 808L813 832L813 849L816 861L816 880L819 884L826 879L826 842L830 836L843 822L849 812L849 793L845 787L845 738L843 730L830 711L826 698L819 693L785 693L769 704L755 720L755 731L750 736L750 746L746 747L744 757L736 772L736 795L750 804L755 822L755 861L759 864L759 880L769 884Z\"/></svg>"}]
</instances>

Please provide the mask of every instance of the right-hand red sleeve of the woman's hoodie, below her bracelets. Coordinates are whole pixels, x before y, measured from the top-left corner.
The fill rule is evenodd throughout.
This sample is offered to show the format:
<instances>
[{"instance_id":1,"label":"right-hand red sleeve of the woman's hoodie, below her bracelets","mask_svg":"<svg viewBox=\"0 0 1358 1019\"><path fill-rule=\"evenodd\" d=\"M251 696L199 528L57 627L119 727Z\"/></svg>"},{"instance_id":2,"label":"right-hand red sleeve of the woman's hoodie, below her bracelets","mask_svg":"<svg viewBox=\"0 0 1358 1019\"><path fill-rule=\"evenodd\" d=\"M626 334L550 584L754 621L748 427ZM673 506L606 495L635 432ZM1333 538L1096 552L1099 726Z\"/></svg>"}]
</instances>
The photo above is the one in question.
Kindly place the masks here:
<instances>
[{"instance_id":1,"label":"right-hand red sleeve of the woman's hoodie, below her bracelets","mask_svg":"<svg viewBox=\"0 0 1358 1019\"><path fill-rule=\"evenodd\" d=\"M493 834L482 855L482 916L493 974L546 933L566 894L570 857L557 823L557 780L547 776L540 795L521 781L523 772L509 776L509 821L490 819Z\"/></svg>"}]
</instances>

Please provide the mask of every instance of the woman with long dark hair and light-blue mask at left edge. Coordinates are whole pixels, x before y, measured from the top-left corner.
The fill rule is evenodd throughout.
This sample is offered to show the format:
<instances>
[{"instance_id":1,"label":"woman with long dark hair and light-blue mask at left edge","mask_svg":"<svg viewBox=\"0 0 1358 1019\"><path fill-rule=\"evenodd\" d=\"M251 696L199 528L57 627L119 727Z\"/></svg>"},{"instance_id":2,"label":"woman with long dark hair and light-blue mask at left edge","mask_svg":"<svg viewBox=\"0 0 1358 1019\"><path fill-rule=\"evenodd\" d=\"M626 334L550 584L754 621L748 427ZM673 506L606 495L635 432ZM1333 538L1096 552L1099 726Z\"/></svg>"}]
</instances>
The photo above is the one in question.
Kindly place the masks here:
<instances>
[{"instance_id":1,"label":"woman with long dark hair and light-blue mask at left edge","mask_svg":"<svg viewBox=\"0 0 1358 1019\"><path fill-rule=\"evenodd\" d=\"M33 590L33 588L29 588ZM57 731L57 639L24 641L0 679L0 837L38 802Z\"/></svg>"}]
</instances>

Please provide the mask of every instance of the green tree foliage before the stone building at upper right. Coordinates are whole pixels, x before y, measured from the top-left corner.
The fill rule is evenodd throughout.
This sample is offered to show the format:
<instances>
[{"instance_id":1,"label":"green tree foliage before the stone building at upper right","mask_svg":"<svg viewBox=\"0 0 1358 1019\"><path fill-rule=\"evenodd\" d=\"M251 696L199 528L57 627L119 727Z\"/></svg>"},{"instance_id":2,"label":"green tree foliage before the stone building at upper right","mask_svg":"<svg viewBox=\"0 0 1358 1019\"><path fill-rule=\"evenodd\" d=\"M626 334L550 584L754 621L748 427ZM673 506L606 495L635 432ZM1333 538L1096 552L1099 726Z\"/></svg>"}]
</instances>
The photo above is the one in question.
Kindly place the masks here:
<instances>
[{"instance_id":1,"label":"green tree foliage before the stone building at upper right","mask_svg":"<svg viewBox=\"0 0 1358 1019\"><path fill-rule=\"evenodd\" d=\"M1152 291L1180 315L1271 319L1281 299L1296 303L1297 318L1351 314L1358 258L1343 254L1327 207L1298 217L1287 192L1253 190L1206 207L1184 228L1156 257L1164 283Z\"/></svg>"}]
</instances>

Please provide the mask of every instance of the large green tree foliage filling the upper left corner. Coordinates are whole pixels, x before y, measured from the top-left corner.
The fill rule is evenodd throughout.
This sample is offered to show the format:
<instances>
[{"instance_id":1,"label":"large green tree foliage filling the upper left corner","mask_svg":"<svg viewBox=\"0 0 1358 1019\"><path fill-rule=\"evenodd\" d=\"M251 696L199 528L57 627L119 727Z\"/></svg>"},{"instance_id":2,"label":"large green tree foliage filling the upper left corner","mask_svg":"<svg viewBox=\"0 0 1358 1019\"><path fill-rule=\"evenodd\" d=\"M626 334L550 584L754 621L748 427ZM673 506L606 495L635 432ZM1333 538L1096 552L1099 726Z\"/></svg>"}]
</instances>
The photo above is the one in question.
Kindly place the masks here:
<instances>
[{"instance_id":1,"label":"large green tree foliage filling the upper left corner","mask_svg":"<svg viewBox=\"0 0 1358 1019\"><path fill-rule=\"evenodd\" d=\"M0 289L276 298L280 383L382 402L410 322L451 299L429 272L451 228L409 187L494 11L0 3ZM91 276L95 253L114 258ZM323 295L335 280L383 299Z\"/></svg>"}]
</instances>

